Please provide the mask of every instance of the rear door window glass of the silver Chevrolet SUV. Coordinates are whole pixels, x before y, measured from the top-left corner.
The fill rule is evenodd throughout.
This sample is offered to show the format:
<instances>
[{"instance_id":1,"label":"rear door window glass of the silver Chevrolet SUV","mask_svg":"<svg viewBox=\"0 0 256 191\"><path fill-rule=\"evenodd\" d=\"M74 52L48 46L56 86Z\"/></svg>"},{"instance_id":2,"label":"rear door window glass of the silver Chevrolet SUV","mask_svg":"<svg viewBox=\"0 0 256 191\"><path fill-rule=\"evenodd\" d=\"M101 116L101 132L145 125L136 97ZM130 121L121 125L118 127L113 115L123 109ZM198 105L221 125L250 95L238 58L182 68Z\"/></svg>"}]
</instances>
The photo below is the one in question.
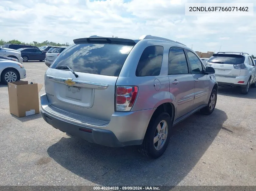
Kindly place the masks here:
<instances>
[{"instance_id":1,"label":"rear door window glass of the silver Chevrolet SUV","mask_svg":"<svg viewBox=\"0 0 256 191\"><path fill-rule=\"evenodd\" d=\"M168 59L168 75L188 74L188 63L183 49L170 48Z\"/></svg>"}]
</instances>

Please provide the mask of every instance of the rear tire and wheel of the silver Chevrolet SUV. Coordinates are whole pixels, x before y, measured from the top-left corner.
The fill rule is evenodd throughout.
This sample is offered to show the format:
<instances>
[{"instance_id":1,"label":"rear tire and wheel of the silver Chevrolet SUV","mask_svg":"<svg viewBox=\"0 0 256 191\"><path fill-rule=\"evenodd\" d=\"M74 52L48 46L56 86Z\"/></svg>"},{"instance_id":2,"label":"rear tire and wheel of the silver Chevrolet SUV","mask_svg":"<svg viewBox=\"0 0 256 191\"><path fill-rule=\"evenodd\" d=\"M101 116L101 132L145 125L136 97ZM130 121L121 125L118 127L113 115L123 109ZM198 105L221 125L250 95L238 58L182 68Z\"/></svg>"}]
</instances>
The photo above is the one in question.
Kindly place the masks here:
<instances>
[{"instance_id":1,"label":"rear tire and wheel of the silver Chevrolet SUV","mask_svg":"<svg viewBox=\"0 0 256 191\"><path fill-rule=\"evenodd\" d=\"M164 123L166 123L165 129L163 129ZM158 127L161 126L162 128L158 129ZM148 129L143 139L143 143L139 146L139 152L150 158L160 157L168 146L171 136L171 129L172 121L167 112L163 112L155 119L151 119L148 124ZM165 139L163 139L164 137Z\"/></svg>"}]
</instances>

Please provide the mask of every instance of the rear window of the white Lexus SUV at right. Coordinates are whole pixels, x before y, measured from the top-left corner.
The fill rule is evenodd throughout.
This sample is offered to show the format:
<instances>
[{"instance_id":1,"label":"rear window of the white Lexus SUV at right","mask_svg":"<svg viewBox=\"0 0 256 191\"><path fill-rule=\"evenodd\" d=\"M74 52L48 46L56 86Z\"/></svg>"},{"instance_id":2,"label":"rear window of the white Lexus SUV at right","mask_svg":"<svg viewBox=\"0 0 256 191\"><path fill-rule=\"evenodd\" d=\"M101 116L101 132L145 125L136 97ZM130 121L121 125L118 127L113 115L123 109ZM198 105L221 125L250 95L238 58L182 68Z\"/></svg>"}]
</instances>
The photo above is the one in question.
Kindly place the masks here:
<instances>
[{"instance_id":1,"label":"rear window of the white Lexus SUV at right","mask_svg":"<svg viewBox=\"0 0 256 191\"><path fill-rule=\"evenodd\" d=\"M242 64L244 63L245 57L242 55L236 54L219 54L213 55L207 62L216 63L216 64Z\"/></svg>"}]
</instances>

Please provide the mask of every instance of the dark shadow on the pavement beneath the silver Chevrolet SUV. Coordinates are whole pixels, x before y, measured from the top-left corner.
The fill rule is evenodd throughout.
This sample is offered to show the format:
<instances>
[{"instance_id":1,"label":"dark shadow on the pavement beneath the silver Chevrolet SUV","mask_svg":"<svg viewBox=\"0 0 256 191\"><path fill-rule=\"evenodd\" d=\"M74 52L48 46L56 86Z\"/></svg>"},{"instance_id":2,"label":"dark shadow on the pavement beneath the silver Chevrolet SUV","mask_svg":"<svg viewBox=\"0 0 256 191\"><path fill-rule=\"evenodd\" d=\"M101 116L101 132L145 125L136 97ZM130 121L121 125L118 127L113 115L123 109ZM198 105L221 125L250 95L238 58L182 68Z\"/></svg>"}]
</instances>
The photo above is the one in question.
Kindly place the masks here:
<instances>
[{"instance_id":1,"label":"dark shadow on the pavement beneath the silver Chevrolet SUV","mask_svg":"<svg viewBox=\"0 0 256 191\"><path fill-rule=\"evenodd\" d=\"M226 113L218 109L209 116L195 113L173 127L167 150L155 160L141 156L135 146L108 148L65 137L50 146L48 154L62 167L99 185L177 185L198 163L226 119Z\"/></svg>"}]
</instances>

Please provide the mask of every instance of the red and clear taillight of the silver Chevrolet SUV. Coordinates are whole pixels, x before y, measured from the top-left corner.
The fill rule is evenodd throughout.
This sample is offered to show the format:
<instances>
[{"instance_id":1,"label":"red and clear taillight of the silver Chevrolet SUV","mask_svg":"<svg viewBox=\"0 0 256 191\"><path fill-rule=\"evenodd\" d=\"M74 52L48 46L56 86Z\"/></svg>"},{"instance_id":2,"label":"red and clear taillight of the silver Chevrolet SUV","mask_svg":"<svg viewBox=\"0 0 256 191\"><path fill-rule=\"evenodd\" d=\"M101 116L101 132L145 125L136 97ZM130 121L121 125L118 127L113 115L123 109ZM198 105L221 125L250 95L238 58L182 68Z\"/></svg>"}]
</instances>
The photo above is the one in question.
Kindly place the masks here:
<instances>
[{"instance_id":1,"label":"red and clear taillight of the silver Chevrolet SUV","mask_svg":"<svg viewBox=\"0 0 256 191\"><path fill-rule=\"evenodd\" d=\"M116 111L130 111L137 93L137 86L116 86Z\"/></svg>"}]
</instances>

